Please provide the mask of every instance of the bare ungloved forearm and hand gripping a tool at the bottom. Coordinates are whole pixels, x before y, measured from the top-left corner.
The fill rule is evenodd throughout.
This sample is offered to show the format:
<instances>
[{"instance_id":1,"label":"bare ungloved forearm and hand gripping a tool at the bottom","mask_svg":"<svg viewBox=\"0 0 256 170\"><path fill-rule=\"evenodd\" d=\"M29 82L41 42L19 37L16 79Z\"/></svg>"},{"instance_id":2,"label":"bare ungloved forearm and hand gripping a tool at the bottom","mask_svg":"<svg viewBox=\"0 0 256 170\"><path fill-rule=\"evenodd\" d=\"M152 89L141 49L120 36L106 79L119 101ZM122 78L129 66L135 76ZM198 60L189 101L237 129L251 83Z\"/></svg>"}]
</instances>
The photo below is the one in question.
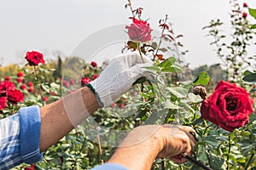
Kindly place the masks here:
<instances>
[{"instance_id":1,"label":"bare ungloved forearm and hand gripping a tool at the bottom","mask_svg":"<svg viewBox=\"0 0 256 170\"><path fill-rule=\"evenodd\" d=\"M195 131L191 127L171 125L137 127L127 135L108 163L132 170L150 169L155 158L171 157L172 161L183 163L187 161L185 158L173 156L190 155L195 139L189 132Z\"/></svg>"}]
</instances>

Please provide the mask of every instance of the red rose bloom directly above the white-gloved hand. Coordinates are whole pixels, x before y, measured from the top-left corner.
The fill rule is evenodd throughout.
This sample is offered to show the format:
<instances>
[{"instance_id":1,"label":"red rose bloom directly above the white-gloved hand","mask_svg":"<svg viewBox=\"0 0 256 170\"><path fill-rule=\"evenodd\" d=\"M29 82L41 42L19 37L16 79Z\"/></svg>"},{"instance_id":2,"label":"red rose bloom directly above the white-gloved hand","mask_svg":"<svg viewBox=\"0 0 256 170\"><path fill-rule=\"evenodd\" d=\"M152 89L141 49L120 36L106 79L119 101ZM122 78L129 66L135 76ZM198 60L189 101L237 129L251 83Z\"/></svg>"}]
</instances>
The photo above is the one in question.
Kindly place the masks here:
<instances>
[{"instance_id":1,"label":"red rose bloom directly above the white-gloved hand","mask_svg":"<svg viewBox=\"0 0 256 170\"><path fill-rule=\"evenodd\" d=\"M132 24L125 26L128 36L134 42L148 42L151 40L151 28L146 21L132 18Z\"/></svg>"}]
</instances>

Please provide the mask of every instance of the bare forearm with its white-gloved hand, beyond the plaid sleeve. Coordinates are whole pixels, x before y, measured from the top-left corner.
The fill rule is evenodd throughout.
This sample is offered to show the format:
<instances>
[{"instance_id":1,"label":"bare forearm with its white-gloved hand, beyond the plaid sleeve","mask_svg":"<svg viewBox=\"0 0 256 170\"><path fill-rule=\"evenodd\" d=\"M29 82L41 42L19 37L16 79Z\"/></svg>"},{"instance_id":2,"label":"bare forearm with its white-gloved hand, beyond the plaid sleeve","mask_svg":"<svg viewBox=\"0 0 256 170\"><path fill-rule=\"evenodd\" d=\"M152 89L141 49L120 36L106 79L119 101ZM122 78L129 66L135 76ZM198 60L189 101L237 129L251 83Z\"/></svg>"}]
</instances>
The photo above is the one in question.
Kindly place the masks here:
<instances>
[{"instance_id":1,"label":"bare forearm with its white-gloved hand, beyond the plaid sleeve","mask_svg":"<svg viewBox=\"0 0 256 170\"><path fill-rule=\"evenodd\" d=\"M96 94L90 88L81 88L42 107L40 150L47 150L100 106L112 105L139 77L149 77L143 66L151 65L152 61L146 57L143 60L146 63L138 53L121 54L109 63L100 77L90 82Z\"/></svg>"}]
</instances>

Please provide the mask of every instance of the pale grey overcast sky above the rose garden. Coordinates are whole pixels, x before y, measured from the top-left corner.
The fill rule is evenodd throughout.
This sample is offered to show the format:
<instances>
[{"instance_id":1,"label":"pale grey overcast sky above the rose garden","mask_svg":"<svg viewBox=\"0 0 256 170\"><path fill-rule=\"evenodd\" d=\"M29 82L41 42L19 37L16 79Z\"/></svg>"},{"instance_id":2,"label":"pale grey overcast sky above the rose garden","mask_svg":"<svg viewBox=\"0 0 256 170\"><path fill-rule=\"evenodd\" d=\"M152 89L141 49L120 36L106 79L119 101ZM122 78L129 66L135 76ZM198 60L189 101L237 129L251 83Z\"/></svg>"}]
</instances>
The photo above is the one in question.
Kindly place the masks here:
<instances>
[{"instance_id":1,"label":"pale grey overcast sky above the rose garden","mask_svg":"<svg viewBox=\"0 0 256 170\"><path fill-rule=\"evenodd\" d=\"M160 18L169 15L177 34L183 34L185 55L191 67L218 63L212 41L202 31L212 19L229 23L230 0L134 0L133 6L143 7L143 19L157 28ZM255 0L244 0L256 8ZM130 22L131 12L125 9L126 0L1 0L0 5L0 62L25 64L28 50L38 50L45 58L54 54L68 56L96 31ZM248 16L249 18L250 16ZM228 26L224 31L230 31ZM104 37L102 37L104 38ZM88 47L90 48L90 47ZM120 49L113 54L119 54ZM109 53L101 53L108 59ZM103 56L104 55L104 56Z\"/></svg>"}]
</instances>

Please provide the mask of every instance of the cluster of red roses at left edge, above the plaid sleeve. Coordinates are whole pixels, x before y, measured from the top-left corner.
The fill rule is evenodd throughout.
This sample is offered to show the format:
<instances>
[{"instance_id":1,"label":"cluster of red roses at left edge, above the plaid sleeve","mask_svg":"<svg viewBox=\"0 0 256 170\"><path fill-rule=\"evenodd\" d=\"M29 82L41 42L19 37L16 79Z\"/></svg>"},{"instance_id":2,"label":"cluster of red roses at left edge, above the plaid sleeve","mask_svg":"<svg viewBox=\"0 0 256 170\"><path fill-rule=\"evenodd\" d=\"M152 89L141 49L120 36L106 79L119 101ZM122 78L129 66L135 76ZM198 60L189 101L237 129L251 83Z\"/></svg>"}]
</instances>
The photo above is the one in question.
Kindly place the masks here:
<instances>
[{"instance_id":1,"label":"cluster of red roses at left edge, above the plaid sleeve","mask_svg":"<svg viewBox=\"0 0 256 170\"><path fill-rule=\"evenodd\" d=\"M0 83L0 109L7 107L7 101L17 105L24 100L24 95L17 90L13 82L4 81Z\"/></svg>"}]
</instances>

